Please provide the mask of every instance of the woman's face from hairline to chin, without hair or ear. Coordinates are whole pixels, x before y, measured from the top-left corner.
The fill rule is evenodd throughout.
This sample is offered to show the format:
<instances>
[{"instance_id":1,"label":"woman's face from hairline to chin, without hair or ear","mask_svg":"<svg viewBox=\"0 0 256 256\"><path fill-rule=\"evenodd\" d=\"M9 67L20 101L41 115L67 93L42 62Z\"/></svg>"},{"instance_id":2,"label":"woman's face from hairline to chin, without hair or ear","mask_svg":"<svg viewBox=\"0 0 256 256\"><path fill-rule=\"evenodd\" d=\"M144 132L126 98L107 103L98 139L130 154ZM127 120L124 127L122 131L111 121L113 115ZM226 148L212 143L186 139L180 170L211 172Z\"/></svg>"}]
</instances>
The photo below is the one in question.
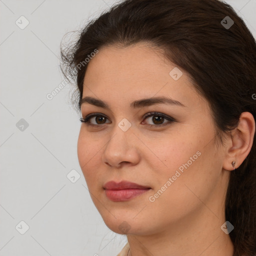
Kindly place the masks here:
<instances>
[{"instance_id":1,"label":"woman's face from hairline to chin, without hair or ear","mask_svg":"<svg viewBox=\"0 0 256 256\"><path fill-rule=\"evenodd\" d=\"M105 224L117 233L153 234L178 221L185 228L199 212L205 224L220 217L229 178L224 148L214 144L210 108L187 73L143 43L103 47L87 65L82 97L108 107L83 100L82 117L98 116L81 123L77 153ZM138 103L154 97L180 103ZM150 112L157 113L144 117ZM123 180L147 189L104 189Z\"/></svg>"}]
</instances>

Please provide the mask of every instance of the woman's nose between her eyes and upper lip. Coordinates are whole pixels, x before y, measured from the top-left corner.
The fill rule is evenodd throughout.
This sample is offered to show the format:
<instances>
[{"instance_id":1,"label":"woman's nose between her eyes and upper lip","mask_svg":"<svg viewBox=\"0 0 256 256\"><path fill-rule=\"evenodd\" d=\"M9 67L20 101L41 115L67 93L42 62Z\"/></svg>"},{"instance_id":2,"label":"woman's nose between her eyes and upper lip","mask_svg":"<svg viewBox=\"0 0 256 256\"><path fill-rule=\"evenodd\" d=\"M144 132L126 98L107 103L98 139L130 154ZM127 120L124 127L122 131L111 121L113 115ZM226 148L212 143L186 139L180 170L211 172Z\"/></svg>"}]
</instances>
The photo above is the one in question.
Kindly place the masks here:
<instances>
[{"instance_id":1,"label":"woman's nose between her eyes and upper lip","mask_svg":"<svg viewBox=\"0 0 256 256\"><path fill-rule=\"evenodd\" d=\"M103 151L102 162L115 168L120 168L124 164L137 164L140 159L138 144L139 140L133 133L132 126L123 131L116 124Z\"/></svg>"}]
</instances>

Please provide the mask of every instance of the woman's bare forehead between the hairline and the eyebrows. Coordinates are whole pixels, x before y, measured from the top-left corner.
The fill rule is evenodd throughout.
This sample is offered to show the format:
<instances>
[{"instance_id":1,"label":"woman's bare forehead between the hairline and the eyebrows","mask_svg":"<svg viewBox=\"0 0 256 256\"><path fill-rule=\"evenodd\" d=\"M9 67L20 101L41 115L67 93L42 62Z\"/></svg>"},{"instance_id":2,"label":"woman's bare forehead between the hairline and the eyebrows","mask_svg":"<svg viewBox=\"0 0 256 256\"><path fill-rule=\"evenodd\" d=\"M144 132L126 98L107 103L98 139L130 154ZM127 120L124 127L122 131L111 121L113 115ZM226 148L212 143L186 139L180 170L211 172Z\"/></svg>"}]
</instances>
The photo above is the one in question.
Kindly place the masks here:
<instances>
[{"instance_id":1,"label":"woman's bare forehead between the hairline and the eyebrows","mask_svg":"<svg viewBox=\"0 0 256 256\"><path fill-rule=\"evenodd\" d=\"M180 71L177 80L171 76L173 69ZM152 96L169 96L188 106L196 104L199 99L202 103L187 72L166 60L161 51L145 43L100 48L88 63L83 83L84 96L104 98L104 101L129 98L129 102Z\"/></svg>"}]
</instances>

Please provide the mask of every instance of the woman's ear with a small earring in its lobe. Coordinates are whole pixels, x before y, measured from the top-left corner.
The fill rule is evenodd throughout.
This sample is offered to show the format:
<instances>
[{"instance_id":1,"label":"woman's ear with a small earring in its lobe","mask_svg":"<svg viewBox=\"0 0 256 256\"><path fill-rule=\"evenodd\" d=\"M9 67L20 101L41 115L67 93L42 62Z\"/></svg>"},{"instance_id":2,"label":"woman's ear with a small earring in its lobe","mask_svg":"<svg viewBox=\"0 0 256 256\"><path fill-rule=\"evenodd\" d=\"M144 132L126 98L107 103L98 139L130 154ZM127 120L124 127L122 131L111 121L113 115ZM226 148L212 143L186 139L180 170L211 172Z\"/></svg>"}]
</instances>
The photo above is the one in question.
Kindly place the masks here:
<instances>
[{"instance_id":1,"label":"woman's ear with a small earring in its lobe","mask_svg":"<svg viewBox=\"0 0 256 256\"><path fill-rule=\"evenodd\" d=\"M239 117L238 126L232 130L232 136L226 147L226 155L223 161L223 169L233 170L238 168L250 152L255 133L255 120L250 112L242 112Z\"/></svg>"}]
</instances>

